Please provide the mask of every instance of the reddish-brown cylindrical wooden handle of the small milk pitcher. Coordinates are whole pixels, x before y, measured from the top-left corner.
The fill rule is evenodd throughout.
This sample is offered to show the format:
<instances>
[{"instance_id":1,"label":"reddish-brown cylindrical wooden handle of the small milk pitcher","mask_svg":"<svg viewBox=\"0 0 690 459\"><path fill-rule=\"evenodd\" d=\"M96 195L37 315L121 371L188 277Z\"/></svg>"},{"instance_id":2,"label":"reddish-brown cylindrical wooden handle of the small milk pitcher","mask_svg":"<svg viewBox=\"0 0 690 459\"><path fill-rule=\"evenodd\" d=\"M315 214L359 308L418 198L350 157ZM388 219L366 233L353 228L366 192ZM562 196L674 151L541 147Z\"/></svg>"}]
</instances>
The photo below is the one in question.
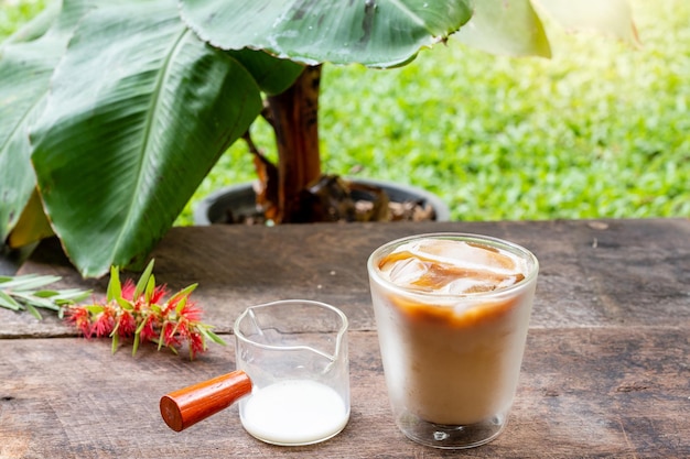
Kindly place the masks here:
<instances>
[{"instance_id":1,"label":"reddish-brown cylindrical wooden handle of the small milk pitcher","mask_svg":"<svg viewBox=\"0 0 690 459\"><path fill-rule=\"evenodd\" d=\"M227 408L251 392L251 380L241 370L171 392L161 397L161 416L175 431Z\"/></svg>"}]
</instances>

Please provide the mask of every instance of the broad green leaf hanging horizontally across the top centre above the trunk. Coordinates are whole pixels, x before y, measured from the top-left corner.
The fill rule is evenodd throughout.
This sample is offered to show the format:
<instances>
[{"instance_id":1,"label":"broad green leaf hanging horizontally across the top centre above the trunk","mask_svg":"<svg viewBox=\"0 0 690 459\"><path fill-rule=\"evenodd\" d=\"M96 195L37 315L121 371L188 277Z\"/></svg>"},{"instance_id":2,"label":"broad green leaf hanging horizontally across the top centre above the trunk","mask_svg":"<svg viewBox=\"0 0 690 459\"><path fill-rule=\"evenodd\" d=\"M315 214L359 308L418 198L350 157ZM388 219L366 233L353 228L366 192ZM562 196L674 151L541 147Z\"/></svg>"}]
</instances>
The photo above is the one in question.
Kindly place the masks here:
<instances>
[{"instance_id":1,"label":"broad green leaf hanging horizontally across the top centre above the trunk","mask_svg":"<svg viewBox=\"0 0 690 459\"><path fill-rule=\"evenodd\" d=\"M483 0L482 0L483 1ZM390 67L445 40L471 0L182 0L182 17L225 50L267 50L306 64Z\"/></svg>"}]
</instances>

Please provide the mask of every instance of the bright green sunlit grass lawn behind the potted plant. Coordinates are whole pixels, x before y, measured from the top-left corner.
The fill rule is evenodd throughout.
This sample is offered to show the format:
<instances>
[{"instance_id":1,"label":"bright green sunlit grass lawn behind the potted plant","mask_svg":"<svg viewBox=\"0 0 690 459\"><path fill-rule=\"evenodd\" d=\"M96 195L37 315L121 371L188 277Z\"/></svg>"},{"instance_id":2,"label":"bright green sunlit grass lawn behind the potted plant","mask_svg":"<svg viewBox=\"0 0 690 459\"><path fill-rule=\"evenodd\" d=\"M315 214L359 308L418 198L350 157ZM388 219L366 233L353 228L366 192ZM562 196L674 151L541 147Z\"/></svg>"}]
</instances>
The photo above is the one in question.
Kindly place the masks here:
<instances>
[{"instance_id":1,"label":"bright green sunlit grass lawn behind the potted plant","mask_svg":"<svg viewBox=\"0 0 690 459\"><path fill-rule=\"evenodd\" d=\"M0 0L0 34L40 8ZM553 57L450 41L392 70L326 65L324 172L430 189L453 220L690 217L690 2L630 0L642 47L549 24ZM272 139L252 134L269 155ZM255 178L238 142L212 190Z\"/></svg>"}]
</instances>

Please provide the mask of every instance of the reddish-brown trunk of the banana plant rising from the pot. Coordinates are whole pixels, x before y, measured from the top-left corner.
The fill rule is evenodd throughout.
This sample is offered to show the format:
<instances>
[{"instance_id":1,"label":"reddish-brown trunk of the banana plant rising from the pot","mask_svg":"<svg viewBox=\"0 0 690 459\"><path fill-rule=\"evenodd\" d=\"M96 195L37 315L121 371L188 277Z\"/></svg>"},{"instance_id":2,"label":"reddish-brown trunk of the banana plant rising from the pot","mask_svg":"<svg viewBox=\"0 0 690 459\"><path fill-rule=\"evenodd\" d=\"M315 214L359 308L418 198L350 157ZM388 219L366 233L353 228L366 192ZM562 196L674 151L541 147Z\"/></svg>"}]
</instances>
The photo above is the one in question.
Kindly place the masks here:
<instances>
[{"instance_id":1,"label":"reddish-brown trunk of the banana plant rising from the pot","mask_svg":"<svg viewBox=\"0 0 690 459\"><path fill-rule=\"evenodd\" d=\"M321 177L320 84L321 65L310 66L288 90L268 97L279 157L276 223L303 221L301 195Z\"/></svg>"}]
</instances>

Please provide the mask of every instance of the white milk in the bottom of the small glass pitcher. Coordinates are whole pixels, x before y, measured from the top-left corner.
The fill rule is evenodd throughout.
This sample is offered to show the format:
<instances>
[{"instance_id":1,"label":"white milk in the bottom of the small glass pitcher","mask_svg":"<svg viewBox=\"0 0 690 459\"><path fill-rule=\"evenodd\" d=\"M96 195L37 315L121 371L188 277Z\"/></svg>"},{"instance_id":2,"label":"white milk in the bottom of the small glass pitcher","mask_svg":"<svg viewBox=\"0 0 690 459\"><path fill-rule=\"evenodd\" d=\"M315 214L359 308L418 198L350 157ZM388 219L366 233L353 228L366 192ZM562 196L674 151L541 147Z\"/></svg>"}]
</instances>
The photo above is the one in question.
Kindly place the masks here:
<instances>
[{"instance_id":1,"label":"white milk in the bottom of the small glass pitcher","mask_svg":"<svg viewBox=\"0 0 690 459\"><path fill-rule=\"evenodd\" d=\"M256 438L276 445L308 445L339 433L349 418L343 398L327 385L289 380L255 390L240 417Z\"/></svg>"}]
</instances>

